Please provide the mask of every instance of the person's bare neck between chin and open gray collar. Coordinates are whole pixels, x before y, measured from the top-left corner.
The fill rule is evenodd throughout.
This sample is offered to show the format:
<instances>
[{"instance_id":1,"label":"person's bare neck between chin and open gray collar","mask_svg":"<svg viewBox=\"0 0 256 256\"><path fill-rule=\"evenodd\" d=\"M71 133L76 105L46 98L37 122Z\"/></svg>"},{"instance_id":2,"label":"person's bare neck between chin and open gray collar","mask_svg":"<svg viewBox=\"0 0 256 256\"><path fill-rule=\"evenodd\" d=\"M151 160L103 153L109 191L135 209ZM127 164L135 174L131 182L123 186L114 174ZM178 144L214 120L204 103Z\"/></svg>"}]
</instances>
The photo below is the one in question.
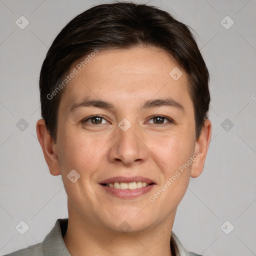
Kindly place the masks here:
<instances>
[{"instance_id":1,"label":"person's bare neck between chin and open gray collar","mask_svg":"<svg viewBox=\"0 0 256 256\"><path fill-rule=\"evenodd\" d=\"M171 256L173 221L174 216L146 230L120 232L103 227L99 221L86 221L69 214L63 240L72 256Z\"/></svg>"}]
</instances>

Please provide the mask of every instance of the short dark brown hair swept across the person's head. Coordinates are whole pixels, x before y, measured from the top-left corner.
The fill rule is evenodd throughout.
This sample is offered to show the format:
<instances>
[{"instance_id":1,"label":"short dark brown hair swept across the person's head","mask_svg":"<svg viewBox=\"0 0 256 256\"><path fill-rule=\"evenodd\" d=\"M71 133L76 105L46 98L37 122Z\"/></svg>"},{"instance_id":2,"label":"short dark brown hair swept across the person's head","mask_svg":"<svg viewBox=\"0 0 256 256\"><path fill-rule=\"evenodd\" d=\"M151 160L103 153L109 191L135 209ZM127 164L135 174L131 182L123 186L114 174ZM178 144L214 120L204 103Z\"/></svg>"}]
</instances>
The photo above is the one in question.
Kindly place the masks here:
<instances>
[{"instance_id":1,"label":"short dark brown hair swept across the person's head","mask_svg":"<svg viewBox=\"0 0 256 256\"><path fill-rule=\"evenodd\" d=\"M58 105L64 90L59 85L63 85L74 61L95 49L141 44L165 50L187 74L195 136L199 137L209 108L209 74L188 26L157 7L117 2L96 5L78 14L59 32L46 54L39 79L41 115L55 142Z\"/></svg>"}]
</instances>

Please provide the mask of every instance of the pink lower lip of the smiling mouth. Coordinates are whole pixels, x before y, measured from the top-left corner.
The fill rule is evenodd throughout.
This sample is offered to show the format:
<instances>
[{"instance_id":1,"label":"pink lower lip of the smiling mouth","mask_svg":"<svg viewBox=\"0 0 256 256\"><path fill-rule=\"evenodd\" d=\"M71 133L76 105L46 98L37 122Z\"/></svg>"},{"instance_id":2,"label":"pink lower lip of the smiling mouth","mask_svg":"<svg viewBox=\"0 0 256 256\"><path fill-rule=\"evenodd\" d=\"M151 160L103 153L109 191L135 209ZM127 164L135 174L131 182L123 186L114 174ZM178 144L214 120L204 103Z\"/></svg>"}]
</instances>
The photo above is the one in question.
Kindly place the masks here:
<instances>
[{"instance_id":1,"label":"pink lower lip of the smiling mouth","mask_svg":"<svg viewBox=\"0 0 256 256\"><path fill-rule=\"evenodd\" d=\"M104 185L100 184L100 186L103 187L105 189L105 191L107 191L108 193L111 193L111 194L113 194L117 197L123 198L123 199L134 198L134 197L140 196L142 194L145 194L145 193L149 192L154 185L155 184L144 186L141 188L136 188L136 189L117 189L117 188L104 186Z\"/></svg>"}]
</instances>

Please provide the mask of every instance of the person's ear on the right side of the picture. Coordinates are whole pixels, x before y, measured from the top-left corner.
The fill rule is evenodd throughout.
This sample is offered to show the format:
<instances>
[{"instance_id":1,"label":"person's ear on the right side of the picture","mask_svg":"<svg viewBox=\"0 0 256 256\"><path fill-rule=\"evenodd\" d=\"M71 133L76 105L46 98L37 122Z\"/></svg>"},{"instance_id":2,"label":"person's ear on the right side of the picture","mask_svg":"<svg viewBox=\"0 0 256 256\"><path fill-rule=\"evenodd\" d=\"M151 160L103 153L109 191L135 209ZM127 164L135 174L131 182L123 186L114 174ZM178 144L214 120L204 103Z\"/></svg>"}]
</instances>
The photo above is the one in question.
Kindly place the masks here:
<instances>
[{"instance_id":1,"label":"person's ear on the right side of the picture","mask_svg":"<svg viewBox=\"0 0 256 256\"><path fill-rule=\"evenodd\" d=\"M198 177L204 166L204 161L206 158L207 150L210 143L211 137L211 122L209 119L204 121L204 126L202 128L199 138L195 141L194 155L198 157L193 161L191 168L191 177Z\"/></svg>"}]
</instances>

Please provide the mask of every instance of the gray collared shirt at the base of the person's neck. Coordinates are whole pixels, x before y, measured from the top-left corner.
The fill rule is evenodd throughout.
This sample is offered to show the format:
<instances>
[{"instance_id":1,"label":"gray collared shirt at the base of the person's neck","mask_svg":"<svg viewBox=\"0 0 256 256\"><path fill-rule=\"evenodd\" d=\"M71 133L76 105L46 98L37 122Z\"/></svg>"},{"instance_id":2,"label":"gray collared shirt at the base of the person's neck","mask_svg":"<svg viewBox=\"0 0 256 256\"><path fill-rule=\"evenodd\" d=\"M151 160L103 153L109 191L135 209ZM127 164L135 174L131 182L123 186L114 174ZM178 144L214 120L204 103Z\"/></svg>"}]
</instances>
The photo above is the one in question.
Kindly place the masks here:
<instances>
[{"instance_id":1,"label":"gray collared shirt at the base of the person's neck","mask_svg":"<svg viewBox=\"0 0 256 256\"><path fill-rule=\"evenodd\" d=\"M55 225L42 242L6 254L5 256L71 256L63 240L67 223L67 218L57 219ZM173 256L202 256L187 251L173 232L171 232L170 248Z\"/></svg>"}]
</instances>

